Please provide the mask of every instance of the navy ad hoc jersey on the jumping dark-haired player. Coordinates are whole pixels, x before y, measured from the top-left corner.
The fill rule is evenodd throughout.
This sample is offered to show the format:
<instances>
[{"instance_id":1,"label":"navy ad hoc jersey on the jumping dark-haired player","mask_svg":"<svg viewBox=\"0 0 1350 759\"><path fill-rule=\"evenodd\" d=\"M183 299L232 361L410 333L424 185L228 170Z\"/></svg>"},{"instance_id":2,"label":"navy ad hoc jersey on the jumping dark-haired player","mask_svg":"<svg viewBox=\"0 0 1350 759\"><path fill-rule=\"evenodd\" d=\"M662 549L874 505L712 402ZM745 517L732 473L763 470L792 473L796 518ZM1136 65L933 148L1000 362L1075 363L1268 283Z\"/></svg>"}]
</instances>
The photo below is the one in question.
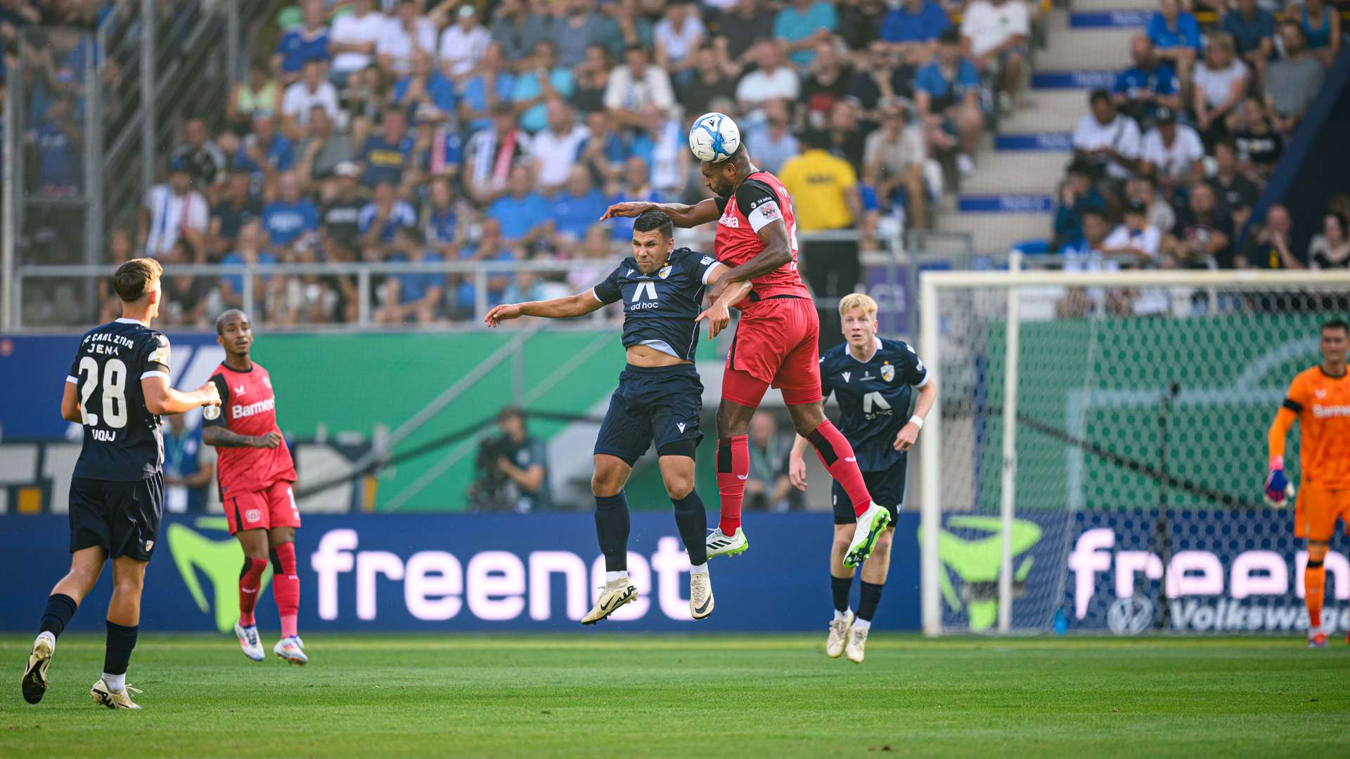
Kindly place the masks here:
<instances>
[{"instance_id":1,"label":"navy ad hoc jersey on the jumping dark-haired player","mask_svg":"<svg viewBox=\"0 0 1350 759\"><path fill-rule=\"evenodd\" d=\"M662 352L694 361L698 325L707 277L720 263L711 255L678 247L666 266L643 274L637 261L625 258L603 282L595 298L603 304L624 301L624 347L651 346Z\"/></svg>"}]
</instances>

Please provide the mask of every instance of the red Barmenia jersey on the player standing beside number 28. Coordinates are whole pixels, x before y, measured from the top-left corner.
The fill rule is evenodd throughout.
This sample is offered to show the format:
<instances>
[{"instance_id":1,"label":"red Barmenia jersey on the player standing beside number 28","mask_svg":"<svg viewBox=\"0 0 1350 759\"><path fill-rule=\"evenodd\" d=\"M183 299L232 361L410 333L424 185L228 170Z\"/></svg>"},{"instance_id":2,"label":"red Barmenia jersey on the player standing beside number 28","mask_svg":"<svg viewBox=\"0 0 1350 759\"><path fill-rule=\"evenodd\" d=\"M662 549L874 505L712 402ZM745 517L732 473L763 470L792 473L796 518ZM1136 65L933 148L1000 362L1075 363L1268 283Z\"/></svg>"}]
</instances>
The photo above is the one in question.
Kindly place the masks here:
<instances>
[{"instance_id":1,"label":"red Barmenia jersey on the player standing beside number 28","mask_svg":"<svg viewBox=\"0 0 1350 759\"><path fill-rule=\"evenodd\" d=\"M254 362L248 371L216 367L211 381L220 390L220 408L212 416L208 407L201 417L204 427L220 425L238 435L261 436L281 432L277 427L277 396L271 392L271 375ZM252 493L275 482L294 482L296 465L290 448L282 440L275 448L217 448L216 478L220 496Z\"/></svg>"}]
</instances>

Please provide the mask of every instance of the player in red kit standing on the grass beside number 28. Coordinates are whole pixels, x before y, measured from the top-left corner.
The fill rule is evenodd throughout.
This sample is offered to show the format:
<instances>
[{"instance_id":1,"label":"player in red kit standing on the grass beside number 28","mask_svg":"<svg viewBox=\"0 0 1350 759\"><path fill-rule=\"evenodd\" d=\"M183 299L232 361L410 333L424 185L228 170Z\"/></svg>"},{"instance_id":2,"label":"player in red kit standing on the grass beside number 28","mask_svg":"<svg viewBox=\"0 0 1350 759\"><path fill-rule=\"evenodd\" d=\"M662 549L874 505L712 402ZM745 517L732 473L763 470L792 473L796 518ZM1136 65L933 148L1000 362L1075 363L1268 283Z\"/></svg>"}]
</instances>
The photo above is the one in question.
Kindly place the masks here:
<instances>
[{"instance_id":1,"label":"player in red kit standing on the grass beside number 28","mask_svg":"<svg viewBox=\"0 0 1350 759\"><path fill-rule=\"evenodd\" d=\"M296 465L290 459L281 429L277 428L277 396L271 375L254 363L252 325L248 315L230 309L216 319L216 342L225 348L225 361L216 367L211 381L220 389L217 413L207 412L201 420L201 442L220 451L216 477L220 504L225 509L230 533L244 550L244 567L239 573L239 621L235 636L244 655L254 662L263 659L262 640L254 620L254 605L262 592L262 573L271 554L271 594L281 614L281 640L273 654L304 664L305 644L296 631L300 610L300 575L296 571Z\"/></svg>"}]
</instances>

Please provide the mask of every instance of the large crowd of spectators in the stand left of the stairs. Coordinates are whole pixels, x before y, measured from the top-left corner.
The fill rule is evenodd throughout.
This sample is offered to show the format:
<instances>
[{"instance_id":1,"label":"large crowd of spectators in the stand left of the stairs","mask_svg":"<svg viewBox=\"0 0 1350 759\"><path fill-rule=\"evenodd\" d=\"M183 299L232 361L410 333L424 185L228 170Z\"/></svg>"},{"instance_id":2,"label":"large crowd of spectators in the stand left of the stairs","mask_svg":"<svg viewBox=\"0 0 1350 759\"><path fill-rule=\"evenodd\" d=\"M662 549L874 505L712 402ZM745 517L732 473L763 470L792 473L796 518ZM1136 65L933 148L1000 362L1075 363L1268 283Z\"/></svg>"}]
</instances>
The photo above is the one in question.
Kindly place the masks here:
<instances>
[{"instance_id":1,"label":"large crowd of spectators in the stand left of the stairs","mask_svg":"<svg viewBox=\"0 0 1350 759\"><path fill-rule=\"evenodd\" d=\"M491 271L486 297L572 292L629 236L624 220L597 224L609 203L706 197L687 126L721 111L798 197L799 232L860 230L814 274L803 254L813 286L842 294L860 247L929 223L941 166L975 169L981 128L1025 78L1029 31L1025 0L305 0L282 18L224 112L176 127L139 224L108 235L113 259L579 259ZM181 324L208 324L244 289L171 282ZM454 274L373 284L362 304L346 273L259 276L255 319L351 321L366 307L427 324L482 305Z\"/></svg>"}]
</instances>

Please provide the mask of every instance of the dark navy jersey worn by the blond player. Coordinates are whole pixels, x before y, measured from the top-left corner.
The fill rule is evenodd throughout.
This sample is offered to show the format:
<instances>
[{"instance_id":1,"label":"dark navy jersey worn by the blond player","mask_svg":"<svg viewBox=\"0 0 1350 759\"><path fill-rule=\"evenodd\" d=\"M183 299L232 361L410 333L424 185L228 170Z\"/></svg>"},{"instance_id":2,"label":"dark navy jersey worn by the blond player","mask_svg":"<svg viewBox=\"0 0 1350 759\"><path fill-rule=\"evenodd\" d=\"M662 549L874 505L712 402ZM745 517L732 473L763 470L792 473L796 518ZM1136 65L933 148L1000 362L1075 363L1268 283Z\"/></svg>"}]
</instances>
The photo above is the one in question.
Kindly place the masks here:
<instances>
[{"instance_id":1,"label":"dark navy jersey worn by the blond player","mask_svg":"<svg viewBox=\"0 0 1350 759\"><path fill-rule=\"evenodd\" d=\"M857 467L884 471L905 463L892 446L910 420L910 388L927 384L927 369L903 340L876 339L876 352L863 362L848 343L821 357L821 394L840 401L840 432L853 446Z\"/></svg>"}]
</instances>

